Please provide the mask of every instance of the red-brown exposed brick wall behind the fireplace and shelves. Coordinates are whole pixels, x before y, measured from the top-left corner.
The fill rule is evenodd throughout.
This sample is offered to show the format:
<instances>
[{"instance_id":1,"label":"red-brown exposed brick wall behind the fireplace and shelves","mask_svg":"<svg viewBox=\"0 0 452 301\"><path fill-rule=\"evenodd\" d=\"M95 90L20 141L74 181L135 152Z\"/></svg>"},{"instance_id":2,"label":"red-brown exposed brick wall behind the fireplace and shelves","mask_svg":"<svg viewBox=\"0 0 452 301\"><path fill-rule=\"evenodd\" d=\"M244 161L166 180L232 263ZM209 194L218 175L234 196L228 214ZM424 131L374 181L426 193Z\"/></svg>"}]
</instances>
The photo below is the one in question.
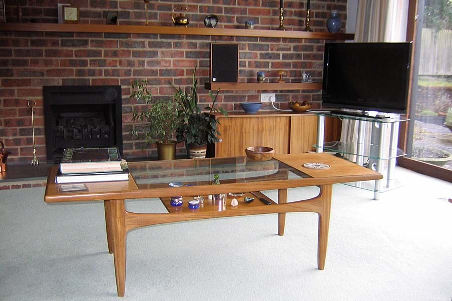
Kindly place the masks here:
<instances>
[{"instance_id":1,"label":"red-brown exposed brick wall behind the fireplace and shelves","mask_svg":"<svg viewBox=\"0 0 452 301\"><path fill-rule=\"evenodd\" d=\"M57 22L57 1L20 0L22 20ZM80 8L81 23L104 24L108 11L118 11L119 24L144 24L142 0L94 1L69 0ZM151 25L171 26L172 7L179 2L150 2ZM17 2L6 0L7 21L17 22ZM204 17L214 13L217 27L243 28L254 20L257 29L277 28L279 1L219 0L187 1L190 27L204 27ZM287 30L302 30L306 1L285 1L284 25ZM338 9L345 22L346 0L311 1L311 28L325 32L331 9ZM344 28L344 27L343 27ZM287 78L300 79L301 72L313 74L321 81L323 40L177 36L157 34L43 33L0 32L0 139L12 152L9 162L29 161L32 136L29 99L36 100L35 143L37 155L45 161L45 136L42 86L44 85L116 85L123 91L123 147L128 157L154 156L155 150L142 152L143 143L129 136L131 117L139 107L129 99L131 83L147 78L155 96L171 97L176 86L190 85L193 68L198 65L199 96L208 102L209 48L212 42L240 45L239 81L256 82L256 72L266 71L270 82L276 82L278 69L288 71ZM239 102L259 101L266 91L221 91L220 105L229 111L241 111ZM269 92L269 91L267 91ZM320 91L270 91L277 93L277 105L287 108L287 101L309 100L314 107L321 102ZM270 109L264 107L264 109ZM182 149L182 145L179 145Z\"/></svg>"}]
</instances>

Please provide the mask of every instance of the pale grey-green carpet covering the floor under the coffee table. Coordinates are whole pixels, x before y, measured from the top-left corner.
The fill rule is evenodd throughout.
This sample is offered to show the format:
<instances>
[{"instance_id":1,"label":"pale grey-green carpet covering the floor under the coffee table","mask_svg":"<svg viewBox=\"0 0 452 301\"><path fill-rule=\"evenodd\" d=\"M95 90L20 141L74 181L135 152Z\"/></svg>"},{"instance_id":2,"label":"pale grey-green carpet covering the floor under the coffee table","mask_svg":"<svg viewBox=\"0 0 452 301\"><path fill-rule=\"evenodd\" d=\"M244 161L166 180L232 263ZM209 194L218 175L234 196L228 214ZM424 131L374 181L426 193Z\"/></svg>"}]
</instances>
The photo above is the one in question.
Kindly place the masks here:
<instances>
[{"instance_id":1,"label":"pale grey-green carpet covering the floor under the coffee table","mask_svg":"<svg viewBox=\"0 0 452 301\"><path fill-rule=\"evenodd\" d=\"M123 299L450 301L452 184L399 167L396 175L404 186L378 201L334 186L324 271L312 213L287 214L282 237L275 214L131 231ZM315 193L292 189L289 199ZM119 299L103 203L46 204L43 195L0 192L0 299ZM126 207L165 210L150 199Z\"/></svg>"}]
</instances>

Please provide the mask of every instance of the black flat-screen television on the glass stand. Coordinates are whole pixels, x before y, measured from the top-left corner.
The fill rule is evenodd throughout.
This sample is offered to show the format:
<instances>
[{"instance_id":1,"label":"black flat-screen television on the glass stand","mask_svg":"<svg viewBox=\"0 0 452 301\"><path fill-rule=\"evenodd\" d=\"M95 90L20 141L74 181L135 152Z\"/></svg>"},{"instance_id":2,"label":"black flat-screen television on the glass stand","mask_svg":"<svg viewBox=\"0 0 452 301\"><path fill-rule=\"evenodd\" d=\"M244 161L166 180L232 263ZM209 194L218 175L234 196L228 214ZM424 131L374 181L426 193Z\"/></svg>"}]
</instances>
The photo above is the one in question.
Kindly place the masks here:
<instances>
[{"instance_id":1,"label":"black flat-screen television on the glass stand","mask_svg":"<svg viewBox=\"0 0 452 301\"><path fill-rule=\"evenodd\" d=\"M411 43L325 43L323 107L405 113Z\"/></svg>"}]
</instances>

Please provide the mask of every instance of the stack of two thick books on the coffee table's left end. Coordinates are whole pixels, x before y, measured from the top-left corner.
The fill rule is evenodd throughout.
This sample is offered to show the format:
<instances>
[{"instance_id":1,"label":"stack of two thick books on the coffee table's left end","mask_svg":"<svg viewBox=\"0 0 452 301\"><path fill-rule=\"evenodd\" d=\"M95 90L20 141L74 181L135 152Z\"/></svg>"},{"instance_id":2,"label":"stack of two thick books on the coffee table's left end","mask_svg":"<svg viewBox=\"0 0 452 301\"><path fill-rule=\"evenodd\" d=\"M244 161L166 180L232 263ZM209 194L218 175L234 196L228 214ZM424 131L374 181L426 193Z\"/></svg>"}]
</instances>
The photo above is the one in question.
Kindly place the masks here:
<instances>
[{"instance_id":1,"label":"stack of two thick books on the coffee table's left end","mask_svg":"<svg viewBox=\"0 0 452 301\"><path fill-rule=\"evenodd\" d=\"M67 148L55 183L127 181L129 169L116 147Z\"/></svg>"}]
</instances>

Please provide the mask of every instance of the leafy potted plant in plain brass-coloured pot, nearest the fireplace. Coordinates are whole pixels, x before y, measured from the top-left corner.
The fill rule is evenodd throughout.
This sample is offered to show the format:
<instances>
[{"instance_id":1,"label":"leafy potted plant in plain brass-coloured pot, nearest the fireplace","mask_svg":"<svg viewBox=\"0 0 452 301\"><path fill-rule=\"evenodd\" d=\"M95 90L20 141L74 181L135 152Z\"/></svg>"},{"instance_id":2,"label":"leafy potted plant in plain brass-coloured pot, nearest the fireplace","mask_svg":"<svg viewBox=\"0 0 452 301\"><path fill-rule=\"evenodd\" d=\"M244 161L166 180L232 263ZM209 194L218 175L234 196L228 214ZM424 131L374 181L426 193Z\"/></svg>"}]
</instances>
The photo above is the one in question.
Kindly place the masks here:
<instances>
[{"instance_id":1,"label":"leafy potted plant in plain brass-coloured pot, nearest the fireplace","mask_svg":"<svg viewBox=\"0 0 452 301\"><path fill-rule=\"evenodd\" d=\"M159 160L172 160L176 155L177 144L172 138L181 123L180 105L174 99L155 99L147 85L147 80L132 84L133 92L130 98L144 101L148 107L133 112L132 121L142 125L135 126L131 133L136 137L144 137L148 145L156 143Z\"/></svg>"}]
</instances>

